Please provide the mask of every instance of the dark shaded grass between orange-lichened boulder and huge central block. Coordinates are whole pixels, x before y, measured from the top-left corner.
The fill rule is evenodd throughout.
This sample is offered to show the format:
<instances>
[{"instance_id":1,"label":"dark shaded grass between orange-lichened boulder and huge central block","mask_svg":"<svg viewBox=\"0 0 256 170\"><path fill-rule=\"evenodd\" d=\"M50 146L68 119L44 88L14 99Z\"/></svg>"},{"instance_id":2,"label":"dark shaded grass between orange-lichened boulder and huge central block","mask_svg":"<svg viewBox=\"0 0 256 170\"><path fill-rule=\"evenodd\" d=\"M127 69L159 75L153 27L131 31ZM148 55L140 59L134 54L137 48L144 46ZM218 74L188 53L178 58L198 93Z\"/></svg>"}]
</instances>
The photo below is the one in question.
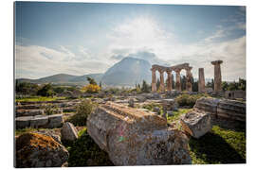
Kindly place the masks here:
<instances>
[{"instance_id":1,"label":"dark shaded grass between orange-lichened boulder and huge central block","mask_svg":"<svg viewBox=\"0 0 256 170\"><path fill-rule=\"evenodd\" d=\"M83 128L79 131L79 138L71 144L65 144L69 152L68 166L113 166L108 154L101 150Z\"/></svg>"}]
</instances>

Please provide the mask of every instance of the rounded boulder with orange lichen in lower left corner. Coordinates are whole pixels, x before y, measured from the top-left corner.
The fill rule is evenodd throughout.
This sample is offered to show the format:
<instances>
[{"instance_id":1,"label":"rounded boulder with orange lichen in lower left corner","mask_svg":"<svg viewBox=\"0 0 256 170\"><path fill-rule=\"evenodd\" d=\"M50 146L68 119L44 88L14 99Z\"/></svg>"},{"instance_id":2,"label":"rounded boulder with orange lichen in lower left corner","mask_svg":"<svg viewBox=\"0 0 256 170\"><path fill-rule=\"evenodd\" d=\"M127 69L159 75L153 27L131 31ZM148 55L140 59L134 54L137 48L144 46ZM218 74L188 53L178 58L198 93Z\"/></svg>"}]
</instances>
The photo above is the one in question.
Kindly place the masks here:
<instances>
[{"instance_id":1,"label":"rounded boulder with orange lichen in lower left corner","mask_svg":"<svg viewBox=\"0 0 256 170\"><path fill-rule=\"evenodd\" d=\"M53 138L39 134L26 133L16 139L15 167L61 167L68 159L64 145Z\"/></svg>"}]
</instances>

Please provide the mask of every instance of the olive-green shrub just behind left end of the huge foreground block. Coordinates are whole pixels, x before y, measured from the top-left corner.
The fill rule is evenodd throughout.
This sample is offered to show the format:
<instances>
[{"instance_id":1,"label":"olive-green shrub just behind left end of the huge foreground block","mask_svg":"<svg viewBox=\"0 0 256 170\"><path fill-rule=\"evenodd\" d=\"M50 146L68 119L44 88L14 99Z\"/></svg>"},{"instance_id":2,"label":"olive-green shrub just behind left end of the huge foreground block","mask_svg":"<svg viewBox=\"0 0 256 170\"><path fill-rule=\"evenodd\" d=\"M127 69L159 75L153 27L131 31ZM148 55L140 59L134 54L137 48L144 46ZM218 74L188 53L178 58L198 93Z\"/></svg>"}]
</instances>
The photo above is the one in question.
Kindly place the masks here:
<instances>
[{"instance_id":1,"label":"olive-green shrub just behind left end of the huge foreground block","mask_svg":"<svg viewBox=\"0 0 256 170\"><path fill-rule=\"evenodd\" d=\"M68 122L71 122L75 126L86 126L87 117L95 107L96 105L90 99L82 100L76 107L76 113L68 119Z\"/></svg>"}]
</instances>

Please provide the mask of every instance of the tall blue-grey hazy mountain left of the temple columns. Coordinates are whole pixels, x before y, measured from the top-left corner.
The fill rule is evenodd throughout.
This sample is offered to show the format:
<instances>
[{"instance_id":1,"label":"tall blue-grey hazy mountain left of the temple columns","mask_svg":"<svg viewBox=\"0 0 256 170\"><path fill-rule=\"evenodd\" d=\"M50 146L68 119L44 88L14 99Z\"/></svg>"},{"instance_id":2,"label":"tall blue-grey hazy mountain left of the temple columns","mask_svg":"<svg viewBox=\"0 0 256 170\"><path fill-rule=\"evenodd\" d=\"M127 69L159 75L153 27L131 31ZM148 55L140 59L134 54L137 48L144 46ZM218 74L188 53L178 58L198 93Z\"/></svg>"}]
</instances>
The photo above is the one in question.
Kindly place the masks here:
<instances>
[{"instance_id":1,"label":"tall blue-grey hazy mountain left of the temple columns","mask_svg":"<svg viewBox=\"0 0 256 170\"><path fill-rule=\"evenodd\" d=\"M102 76L102 84L108 86L134 86L146 80L151 82L151 64L144 59L124 58L110 67Z\"/></svg>"}]
</instances>

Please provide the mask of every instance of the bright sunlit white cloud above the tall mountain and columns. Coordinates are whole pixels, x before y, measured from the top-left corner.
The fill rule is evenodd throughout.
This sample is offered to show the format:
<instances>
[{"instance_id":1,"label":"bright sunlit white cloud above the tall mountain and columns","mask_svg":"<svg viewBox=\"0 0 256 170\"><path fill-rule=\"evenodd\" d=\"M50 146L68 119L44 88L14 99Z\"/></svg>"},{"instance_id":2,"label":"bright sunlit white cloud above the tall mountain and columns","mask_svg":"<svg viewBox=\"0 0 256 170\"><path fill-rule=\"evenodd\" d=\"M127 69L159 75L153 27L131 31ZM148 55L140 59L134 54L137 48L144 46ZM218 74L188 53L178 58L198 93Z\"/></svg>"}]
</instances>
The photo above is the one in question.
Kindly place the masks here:
<instances>
[{"instance_id":1,"label":"bright sunlit white cloud above the tall mountain and columns","mask_svg":"<svg viewBox=\"0 0 256 170\"><path fill-rule=\"evenodd\" d=\"M145 21L143 21L145 20ZM243 25L241 23L241 28ZM216 30L199 42L184 44L172 32L167 32L149 18L125 21L113 28L108 37L110 59L136 57L154 63L173 66L189 62L192 74L198 77L198 68L205 68L206 77L213 78L210 61L222 59L222 75L225 80L246 77L246 37L226 40L234 30L231 26L216 26ZM244 27L245 28L245 27ZM125 50L121 50L125 49Z\"/></svg>"}]
</instances>

